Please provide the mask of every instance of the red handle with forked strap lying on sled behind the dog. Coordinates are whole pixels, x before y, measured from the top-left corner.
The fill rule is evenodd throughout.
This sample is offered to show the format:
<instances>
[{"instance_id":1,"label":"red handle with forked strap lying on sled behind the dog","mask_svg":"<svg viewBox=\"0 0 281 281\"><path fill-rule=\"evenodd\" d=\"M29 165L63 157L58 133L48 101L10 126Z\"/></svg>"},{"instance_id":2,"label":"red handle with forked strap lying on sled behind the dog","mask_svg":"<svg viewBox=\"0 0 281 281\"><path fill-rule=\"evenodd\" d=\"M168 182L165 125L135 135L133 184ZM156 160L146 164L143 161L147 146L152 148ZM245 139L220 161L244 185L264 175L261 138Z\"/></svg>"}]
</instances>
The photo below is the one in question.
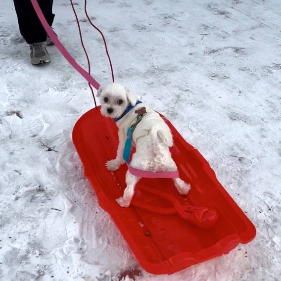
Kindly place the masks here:
<instances>
[{"instance_id":1,"label":"red handle with forked strap lying on sled behind the dog","mask_svg":"<svg viewBox=\"0 0 281 281\"><path fill-rule=\"evenodd\" d=\"M174 207L160 208L133 199L132 205L136 207L160 215L173 215L178 213L182 219L201 229L209 229L213 227L217 222L218 214L214 209L208 207L192 206L188 203L182 205L173 195L170 195L166 192L146 186L140 186L140 188L170 201L174 205Z\"/></svg>"}]
</instances>

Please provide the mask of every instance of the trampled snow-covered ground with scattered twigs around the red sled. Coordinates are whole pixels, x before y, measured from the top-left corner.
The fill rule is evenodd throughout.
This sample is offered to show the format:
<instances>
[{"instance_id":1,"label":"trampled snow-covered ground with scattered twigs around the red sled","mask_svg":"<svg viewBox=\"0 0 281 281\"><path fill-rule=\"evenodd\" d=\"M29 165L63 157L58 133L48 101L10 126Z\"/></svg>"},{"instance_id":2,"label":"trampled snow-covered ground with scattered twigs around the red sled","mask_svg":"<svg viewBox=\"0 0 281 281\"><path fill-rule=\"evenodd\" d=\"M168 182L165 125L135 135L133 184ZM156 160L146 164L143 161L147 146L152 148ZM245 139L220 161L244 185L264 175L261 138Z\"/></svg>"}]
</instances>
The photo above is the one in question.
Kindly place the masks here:
<instances>
[{"instance_id":1,"label":"trampled snow-covered ground with scattered twigs around the red sled","mask_svg":"<svg viewBox=\"0 0 281 281\"><path fill-rule=\"evenodd\" d=\"M83 2L75 7L104 84L107 58ZM88 2L116 81L199 149L257 228L251 243L226 256L172 276L137 270L136 280L280 280L281 1ZM69 1L55 0L53 10L62 43L86 67ZM138 262L98 206L71 141L75 122L93 107L91 93L56 47L48 49L49 65L30 64L13 3L1 0L0 280L119 280Z\"/></svg>"}]
</instances>

